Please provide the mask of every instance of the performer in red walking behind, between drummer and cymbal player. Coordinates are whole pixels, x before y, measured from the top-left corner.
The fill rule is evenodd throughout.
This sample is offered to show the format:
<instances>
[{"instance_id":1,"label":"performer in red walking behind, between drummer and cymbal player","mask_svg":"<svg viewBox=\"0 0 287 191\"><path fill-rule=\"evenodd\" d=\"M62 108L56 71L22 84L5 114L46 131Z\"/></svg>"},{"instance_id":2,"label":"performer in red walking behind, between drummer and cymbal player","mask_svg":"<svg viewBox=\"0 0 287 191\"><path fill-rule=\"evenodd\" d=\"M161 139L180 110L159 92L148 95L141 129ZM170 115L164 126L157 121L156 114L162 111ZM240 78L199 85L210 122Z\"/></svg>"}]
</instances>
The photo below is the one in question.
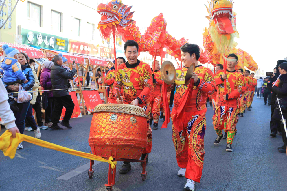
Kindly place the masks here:
<instances>
[{"instance_id":1,"label":"performer in red walking behind, between drummer and cymbal player","mask_svg":"<svg viewBox=\"0 0 287 191\"><path fill-rule=\"evenodd\" d=\"M155 67L155 70L154 68ZM159 123L159 113L160 113L160 103L161 103L161 71L159 70L159 61L152 62L152 71L154 70L154 74L152 74L152 91L150 92L150 107L151 107L151 119L150 125L153 120L153 129L157 129Z\"/></svg>"}]
</instances>

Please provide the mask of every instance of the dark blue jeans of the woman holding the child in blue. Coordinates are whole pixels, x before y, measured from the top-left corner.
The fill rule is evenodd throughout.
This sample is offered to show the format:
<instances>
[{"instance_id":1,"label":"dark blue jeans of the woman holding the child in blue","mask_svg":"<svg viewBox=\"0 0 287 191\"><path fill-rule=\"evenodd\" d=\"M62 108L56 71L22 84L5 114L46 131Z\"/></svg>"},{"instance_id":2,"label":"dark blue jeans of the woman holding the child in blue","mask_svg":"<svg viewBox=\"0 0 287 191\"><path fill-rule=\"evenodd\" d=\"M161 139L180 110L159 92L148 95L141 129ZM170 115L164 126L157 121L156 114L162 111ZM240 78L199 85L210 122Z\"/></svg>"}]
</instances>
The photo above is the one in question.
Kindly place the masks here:
<instances>
[{"instance_id":1,"label":"dark blue jeans of the woman holding the child in blue","mask_svg":"<svg viewBox=\"0 0 287 191\"><path fill-rule=\"evenodd\" d=\"M25 119L26 119L26 115L30 106L30 101L28 102L24 102L21 104L17 104L19 111L18 112L14 112L15 118L16 118L16 126L19 129L19 132L21 134L23 134L24 129L25 129Z\"/></svg>"}]
</instances>

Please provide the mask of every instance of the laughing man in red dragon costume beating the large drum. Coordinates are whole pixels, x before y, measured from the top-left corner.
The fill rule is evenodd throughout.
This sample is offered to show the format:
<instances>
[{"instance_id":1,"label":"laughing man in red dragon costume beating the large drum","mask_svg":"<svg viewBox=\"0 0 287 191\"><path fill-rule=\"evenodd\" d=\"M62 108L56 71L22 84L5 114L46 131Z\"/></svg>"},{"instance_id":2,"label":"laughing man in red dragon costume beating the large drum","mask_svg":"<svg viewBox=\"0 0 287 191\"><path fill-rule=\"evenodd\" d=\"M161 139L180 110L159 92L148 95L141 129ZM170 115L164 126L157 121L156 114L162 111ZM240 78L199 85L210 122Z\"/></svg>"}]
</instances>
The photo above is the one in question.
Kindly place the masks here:
<instances>
[{"instance_id":1,"label":"laughing man in red dragon costume beating the large drum","mask_svg":"<svg viewBox=\"0 0 287 191\"><path fill-rule=\"evenodd\" d=\"M143 108L147 113L147 141L141 160L152 150L152 130L150 128L150 91L152 89L152 71L150 66L137 59L139 45L134 40L127 40L124 44L125 56L128 61L119 65L115 74L113 94L118 104L130 104ZM117 91L124 89L121 100L117 97ZM148 163L148 156L146 164ZM119 173L127 173L131 170L130 162L124 162Z\"/></svg>"}]
</instances>

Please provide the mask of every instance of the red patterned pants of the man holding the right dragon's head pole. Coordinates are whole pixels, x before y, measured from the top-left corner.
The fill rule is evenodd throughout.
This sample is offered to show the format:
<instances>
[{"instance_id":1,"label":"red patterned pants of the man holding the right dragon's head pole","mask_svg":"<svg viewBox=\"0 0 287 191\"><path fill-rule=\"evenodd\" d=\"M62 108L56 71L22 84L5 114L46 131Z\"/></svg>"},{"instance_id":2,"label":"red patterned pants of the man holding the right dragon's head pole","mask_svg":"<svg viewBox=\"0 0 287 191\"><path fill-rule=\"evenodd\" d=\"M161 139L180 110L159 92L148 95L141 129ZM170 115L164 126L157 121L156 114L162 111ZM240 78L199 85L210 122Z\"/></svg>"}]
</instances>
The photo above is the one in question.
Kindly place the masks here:
<instances>
[{"instance_id":1,"label":"red patterned pants of the man holding the right dragon's head pole","mask_svg":"<svg viewBox=\"0 0 287 191\"><path fill-rule=\"evenodd\" d=\"M238 108L227 106L215 106L212 117L213 126L218 136L222 136L222 129L227 132L227 143L232 144L236 134L236 123L238 122Z\"/></svg>"}]
</instances>

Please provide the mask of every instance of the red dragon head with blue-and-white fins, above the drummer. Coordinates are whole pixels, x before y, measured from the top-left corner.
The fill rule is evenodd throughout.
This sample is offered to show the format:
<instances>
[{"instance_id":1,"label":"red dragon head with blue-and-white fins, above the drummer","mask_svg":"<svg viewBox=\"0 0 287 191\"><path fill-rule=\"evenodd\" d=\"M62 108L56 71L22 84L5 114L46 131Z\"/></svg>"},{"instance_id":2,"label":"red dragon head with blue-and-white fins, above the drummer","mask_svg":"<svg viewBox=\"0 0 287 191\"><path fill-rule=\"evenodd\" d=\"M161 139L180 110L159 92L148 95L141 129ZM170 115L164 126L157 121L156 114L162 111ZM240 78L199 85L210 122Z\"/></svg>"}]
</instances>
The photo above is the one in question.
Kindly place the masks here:
<instances>
[{"instance_id":1,"label":"red dragon head with blue-and-white fins, above the drummer","mask_svg":"<svg viewBox=\"0 0 287 191\"><path fill-rule=\"evenodd\" d=\"M131 19L134 12L130 12L132 6L127 7L121 0L112 0L107 4L100 4L97 12L101 15L101 21L98 23L98 29L102 37L107 39L111 32L115 32L116 27L126 27L132 23Z\"/></svg>"}]
</instances>

